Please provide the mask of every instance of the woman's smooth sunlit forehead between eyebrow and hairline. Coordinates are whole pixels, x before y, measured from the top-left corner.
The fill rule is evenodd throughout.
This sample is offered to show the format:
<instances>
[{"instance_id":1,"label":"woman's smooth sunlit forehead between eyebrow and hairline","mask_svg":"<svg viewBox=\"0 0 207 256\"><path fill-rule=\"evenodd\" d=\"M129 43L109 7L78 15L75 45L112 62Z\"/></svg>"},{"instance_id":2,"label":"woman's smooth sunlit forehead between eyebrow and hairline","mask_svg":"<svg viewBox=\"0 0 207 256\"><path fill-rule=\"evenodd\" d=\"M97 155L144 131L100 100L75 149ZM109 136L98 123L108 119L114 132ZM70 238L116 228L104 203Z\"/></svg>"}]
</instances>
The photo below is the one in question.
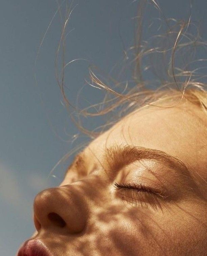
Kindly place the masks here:
<instances>
[{"instance_id":1,"label":"woman's smooth sunlit forehead between eyebrow and hairline","mask_svg":"<svg viewBox=\"0 0 207 256\"><path fill-rule=\"evenodd\" d=\"M206 173L206 116L194 104L134 111L92 141L85 153L101 159L113 145L134 145L164 151L189 170Z\"/></svg>"}]
</instances>

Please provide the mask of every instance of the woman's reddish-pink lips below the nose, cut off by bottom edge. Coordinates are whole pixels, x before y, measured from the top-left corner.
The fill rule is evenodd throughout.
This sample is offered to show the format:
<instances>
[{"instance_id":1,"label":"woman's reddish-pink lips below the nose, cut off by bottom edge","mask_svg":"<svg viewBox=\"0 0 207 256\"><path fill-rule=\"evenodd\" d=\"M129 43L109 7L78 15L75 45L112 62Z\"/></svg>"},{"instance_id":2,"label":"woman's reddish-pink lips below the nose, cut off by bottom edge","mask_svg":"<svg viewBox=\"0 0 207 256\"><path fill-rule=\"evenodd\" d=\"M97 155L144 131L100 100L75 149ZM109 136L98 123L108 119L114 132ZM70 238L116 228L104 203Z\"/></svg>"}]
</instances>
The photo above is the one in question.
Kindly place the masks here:
<instances>
[{"instance_id":1,"label":"woman's reddish-pink lips below the nose, cut off by bottom edge","mask_svg":"<svg viewBox=\"0 0 207 256\"><path fill-rule=\"evenodd\" d=\"M22 245L17 256L52 256L52 254L42 241L32 239Z\"/></svg>"}]
</instances>

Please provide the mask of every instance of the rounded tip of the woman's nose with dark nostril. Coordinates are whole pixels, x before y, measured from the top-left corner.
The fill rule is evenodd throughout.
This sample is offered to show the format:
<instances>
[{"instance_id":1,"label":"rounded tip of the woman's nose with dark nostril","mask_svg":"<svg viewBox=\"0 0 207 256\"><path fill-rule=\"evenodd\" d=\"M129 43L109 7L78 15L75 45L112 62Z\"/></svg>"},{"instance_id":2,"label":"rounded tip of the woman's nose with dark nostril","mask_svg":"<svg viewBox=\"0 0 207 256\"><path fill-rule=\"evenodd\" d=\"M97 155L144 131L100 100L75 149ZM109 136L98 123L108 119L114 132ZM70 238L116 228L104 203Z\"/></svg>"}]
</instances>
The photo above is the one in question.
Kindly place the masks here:
<instances>
[{"instance_id":1,"label":"rounded tip of the woman's nose with dark nostril","mask_svg":"<svg viewBox=\"0 0 207 256\"><path fill-rule=\"evenodd\" d=\"M34 225L37 231L55 229L80 233L88 217L88 206L83 191L75 185L50 188L34 199Z\"/></svg>"}]
</instances>

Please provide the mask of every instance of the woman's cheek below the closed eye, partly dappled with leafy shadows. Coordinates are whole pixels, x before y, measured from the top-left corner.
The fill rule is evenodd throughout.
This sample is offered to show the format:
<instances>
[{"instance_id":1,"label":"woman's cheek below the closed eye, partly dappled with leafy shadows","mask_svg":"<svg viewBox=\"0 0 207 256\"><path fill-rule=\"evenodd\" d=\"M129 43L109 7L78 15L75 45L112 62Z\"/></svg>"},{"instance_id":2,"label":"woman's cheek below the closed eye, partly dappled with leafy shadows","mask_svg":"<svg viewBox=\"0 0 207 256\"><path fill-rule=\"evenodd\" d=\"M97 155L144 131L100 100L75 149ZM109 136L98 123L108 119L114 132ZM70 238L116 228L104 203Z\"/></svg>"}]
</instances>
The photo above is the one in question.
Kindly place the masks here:
<instances>
[{"instance_id":1,"label":"woman's cheek below the closed eye, partly dappled with leafy shadows","mask_svg":"<svg viewBox=\"0 0 207 256\"><path fill-rule=\"evenodd\" d=\"M89 233L114 255L187 255L186 250L203 247L199 223L177 206L155 213L120 202L102 209L92 221Z\"/></svg>"}]
</instances>

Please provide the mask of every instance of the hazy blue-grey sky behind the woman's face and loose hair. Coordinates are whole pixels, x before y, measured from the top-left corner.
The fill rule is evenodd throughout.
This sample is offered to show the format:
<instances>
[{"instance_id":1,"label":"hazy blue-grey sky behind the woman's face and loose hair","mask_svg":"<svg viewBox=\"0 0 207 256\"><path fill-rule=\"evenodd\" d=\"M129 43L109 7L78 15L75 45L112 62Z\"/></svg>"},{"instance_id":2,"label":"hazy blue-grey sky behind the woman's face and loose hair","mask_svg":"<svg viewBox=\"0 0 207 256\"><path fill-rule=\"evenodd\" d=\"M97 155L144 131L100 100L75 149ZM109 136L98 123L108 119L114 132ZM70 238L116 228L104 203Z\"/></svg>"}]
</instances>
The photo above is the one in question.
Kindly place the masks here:
<instances>
[{"instance_id":1,"label":"hazy blue-grey sky behind the woman's face and loose hair","mask_svg":"<svg viewBox=\"0 0 207 256\"><path fill-rule=\"evenodd\" d=\"M136 16L137 2L73 1L75 8L67 28L70 33L66 40L66 62L84 58L109 73L123 58L123 48L132 45L132 17ZM159 1L167 18L188 17L190 2ZM70 1L62 4L63 17L66 3L70 5ZM207 1L197 0L192 4L192 19L201 22L207 39ZM79 132L62 104L55 78L55 54L62 27L60 13L54 16L56 11L55 0L1 0L0 255L4 256L15 255L19 245L33 233L34 196L60 183L71 158L57 166L54 176L49 176L52 168L75 145L87 141L80 135L72 142L71 136ZM159 17L155 8L146 13L146 19L154 14ZM86 84L85 78L88 78L87 61L76 61L66 68L67 95L75 102L78 90L84 87L83 105L85 99L93 102L95 97L100 97L96 89Z\"/></svg>"}]
</instances>

